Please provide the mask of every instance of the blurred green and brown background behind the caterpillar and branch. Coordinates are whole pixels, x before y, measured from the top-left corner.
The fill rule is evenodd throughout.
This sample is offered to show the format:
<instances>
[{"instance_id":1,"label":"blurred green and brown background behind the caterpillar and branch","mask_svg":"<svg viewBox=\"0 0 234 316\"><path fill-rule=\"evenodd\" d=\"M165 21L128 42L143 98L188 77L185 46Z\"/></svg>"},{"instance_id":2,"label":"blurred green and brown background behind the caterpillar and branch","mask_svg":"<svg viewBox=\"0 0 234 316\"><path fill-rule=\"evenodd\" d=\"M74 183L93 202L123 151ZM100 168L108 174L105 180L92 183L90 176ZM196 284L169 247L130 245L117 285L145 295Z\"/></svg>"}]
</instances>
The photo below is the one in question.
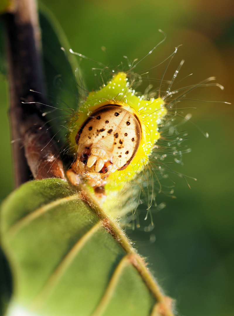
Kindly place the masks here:
<instances>
[{"instance_id":1,"label":"blurred green and brown background behind the caterpillar and branch","mask_svg":"<svg viewBox=\"0 0 234 316\"><path fill-rule=\"evenodd\" d=\"M216 76L225 87L197 88L190 99L227 101L183 101L184 115L192 121L186 142L192 152L183 156L183 165L173 169L197 178L189 181L174 177L176 199L159 194L157 203L166 208L153 214L155 228L146 233L128 231L139 253L147 257L159 284L177 301L180 315L232 316L234 313L234 212L233 212L233 119L234 119L234 3L202 0L168 1L77 1L44 0L62 26L73 51L108 65L118 65L123 56L143 57L161 39L167 40L139 64L136 71L153 67L183 44L175 55L165 79L170 80L182 59L179 80L193 73L181 86ZM106 53L101 49L106 47ZM108 56L107 56L108 55ZM165 63L151 71L160 79ZM96 87L90 71L96 67L81 61L89 88ZM7 119L7 83L0 77L1 165L0 198L13 189L10 132ZM144 91L142 91L144 92ZM152 209L153 211L153 209ZM154 242L153 242L154 241Z\"/></svg>"}]
</instances>

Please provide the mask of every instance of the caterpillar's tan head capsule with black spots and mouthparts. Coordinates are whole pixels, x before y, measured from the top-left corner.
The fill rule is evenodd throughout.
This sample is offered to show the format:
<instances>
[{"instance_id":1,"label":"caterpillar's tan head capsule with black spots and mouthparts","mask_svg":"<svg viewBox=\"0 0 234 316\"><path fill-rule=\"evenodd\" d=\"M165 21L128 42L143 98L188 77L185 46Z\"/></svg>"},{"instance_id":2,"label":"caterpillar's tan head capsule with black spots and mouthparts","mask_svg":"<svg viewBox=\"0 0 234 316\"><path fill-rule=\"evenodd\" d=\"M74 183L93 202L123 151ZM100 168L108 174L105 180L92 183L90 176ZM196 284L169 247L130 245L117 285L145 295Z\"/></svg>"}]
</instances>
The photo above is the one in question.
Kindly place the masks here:
<instances>
[{"instance_id":1,"label":"caterpillar's tan head capsule with black spots and mouthparts","mask_svg":"<svg viewBox=\"0 0 234 316\"><path fill-rule=\"evenodd\" d=\"M102 186L110 173L125 169L141 141L137 116L118 104L91 113L77 132L77 171L92 186Z\"/></svg>"}]
</instances>

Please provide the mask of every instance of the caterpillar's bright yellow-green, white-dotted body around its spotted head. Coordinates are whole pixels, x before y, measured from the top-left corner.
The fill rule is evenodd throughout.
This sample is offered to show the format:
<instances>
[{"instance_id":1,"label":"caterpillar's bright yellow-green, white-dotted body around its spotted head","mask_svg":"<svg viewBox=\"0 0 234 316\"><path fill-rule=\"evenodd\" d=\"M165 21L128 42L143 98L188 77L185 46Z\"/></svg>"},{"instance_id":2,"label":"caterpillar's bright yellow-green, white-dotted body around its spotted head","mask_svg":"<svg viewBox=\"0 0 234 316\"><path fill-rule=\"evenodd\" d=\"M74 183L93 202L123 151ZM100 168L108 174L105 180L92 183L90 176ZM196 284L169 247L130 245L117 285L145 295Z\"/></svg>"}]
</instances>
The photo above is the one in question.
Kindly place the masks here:
<instances>
[{"instance_id":1,"label":"caterpillar's bright yellow-green, white-dotted body around its spotted head","mask_svg":"<svg viewBox=\"0 0 234 316\"><path fill-rule=\"evenodd\" d=\"M131 163L124 170L116 170L108 176L105 185L106 195L113 196L120 192L124 185L137 177L148 163L152 149L160 138L158 125L167 114L164 100L161 98L147 99L147 96L137 96L128 83L127 74L119 72L113 79L98 91L89 93L87 99L80 106L77 119L71 126L70 142L77 152L77 132L90 114L99 109L103 104L117 104L138 118L141 125L141 141L139 148Z\"/></svg>"}]
</instances>

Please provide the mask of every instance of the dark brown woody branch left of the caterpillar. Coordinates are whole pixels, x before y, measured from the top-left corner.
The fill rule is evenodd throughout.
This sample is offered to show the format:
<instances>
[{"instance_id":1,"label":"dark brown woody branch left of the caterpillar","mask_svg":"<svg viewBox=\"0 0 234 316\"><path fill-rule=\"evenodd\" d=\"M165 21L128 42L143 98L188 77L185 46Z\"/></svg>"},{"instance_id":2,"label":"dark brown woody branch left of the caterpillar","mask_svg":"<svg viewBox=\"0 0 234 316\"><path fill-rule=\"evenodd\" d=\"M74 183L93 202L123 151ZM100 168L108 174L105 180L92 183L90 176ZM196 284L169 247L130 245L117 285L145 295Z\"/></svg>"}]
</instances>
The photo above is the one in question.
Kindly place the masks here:
<instances>
[{"instance_id":1,"label":"dark brown woody branch left of the caterpillar","mask_svg":"<svg viewBox=\"0 0 234 316\"><path fill-rule=\"evenodd\" d=\"M32 179L32 174L35 179L64 178L56 144L51 141L41 116L43 106L39 104L48 102L43 96L40 28L35 1L16 0L14 10L4 16L4 21L15 186Z\"/></svg>"}]
</instances>

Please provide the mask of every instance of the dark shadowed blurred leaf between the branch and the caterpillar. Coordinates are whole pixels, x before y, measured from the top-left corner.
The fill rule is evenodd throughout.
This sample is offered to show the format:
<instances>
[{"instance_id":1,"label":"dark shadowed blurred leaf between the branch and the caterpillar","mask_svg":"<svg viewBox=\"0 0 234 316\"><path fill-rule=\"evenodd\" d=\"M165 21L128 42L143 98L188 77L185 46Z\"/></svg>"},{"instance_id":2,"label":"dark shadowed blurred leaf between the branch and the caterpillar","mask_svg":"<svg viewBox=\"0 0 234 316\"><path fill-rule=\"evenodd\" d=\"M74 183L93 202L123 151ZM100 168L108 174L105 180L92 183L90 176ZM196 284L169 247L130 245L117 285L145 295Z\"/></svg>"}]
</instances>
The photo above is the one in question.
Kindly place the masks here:
<instances>
[{"instance_id":1,"label":"dark shadowed blurred leaf between the branch and the caterpillar","mask_svg":"<svg viewBox=\"0 0 234 316\"><path fill-rule=\"evenodd\" d=\"M79 105L80 83L75 79L76 58L69 52L66 37L51 13L42 7L39 17L46 96L49 101L43 115L50 122L55 139L62 138L65 141L67 122Z\"/></svg>"}]
</instances>

